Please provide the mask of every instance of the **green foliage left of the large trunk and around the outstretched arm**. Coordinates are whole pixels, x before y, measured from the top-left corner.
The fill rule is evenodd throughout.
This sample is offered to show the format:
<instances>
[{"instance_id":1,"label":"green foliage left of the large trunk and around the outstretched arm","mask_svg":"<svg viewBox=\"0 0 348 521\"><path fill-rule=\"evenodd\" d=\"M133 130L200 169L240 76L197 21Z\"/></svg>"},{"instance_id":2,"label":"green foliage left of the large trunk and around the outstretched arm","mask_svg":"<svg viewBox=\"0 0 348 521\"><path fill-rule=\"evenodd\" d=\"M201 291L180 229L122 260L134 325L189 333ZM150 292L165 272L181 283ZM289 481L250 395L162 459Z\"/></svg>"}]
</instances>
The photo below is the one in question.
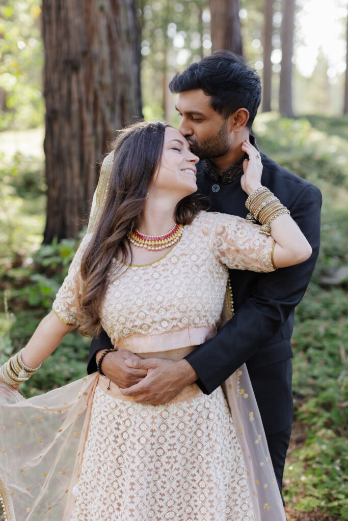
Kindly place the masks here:
<instances>
[{"instance_id":1,"label":"green foliage left of the large trunk and around the outstretched arm","mask_svg":"<svg viewBox=\"0 0 348 521\"><path fill-rule=\"evenodd\" d=\"M41 245L44 226L42 159L0 154L0 364L21 349L52 307L77 241ZM39 394L86 374L90 341L69 333L22 391Z\"/></svg>"}]
</instances>

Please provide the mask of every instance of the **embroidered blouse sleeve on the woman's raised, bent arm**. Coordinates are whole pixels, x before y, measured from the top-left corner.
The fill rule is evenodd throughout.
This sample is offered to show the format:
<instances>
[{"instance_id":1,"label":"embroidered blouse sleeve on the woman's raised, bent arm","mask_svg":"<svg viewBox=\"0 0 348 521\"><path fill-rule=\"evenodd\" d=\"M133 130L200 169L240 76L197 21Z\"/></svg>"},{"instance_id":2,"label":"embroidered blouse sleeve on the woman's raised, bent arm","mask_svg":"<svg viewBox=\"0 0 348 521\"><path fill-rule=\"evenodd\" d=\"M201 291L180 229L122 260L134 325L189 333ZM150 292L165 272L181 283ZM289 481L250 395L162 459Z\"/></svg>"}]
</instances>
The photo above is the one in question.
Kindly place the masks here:
<instances>
[{"instance_id":1,"label":"embroidered blouse sleeve on the woman's raised, bent arm","mask_svg":"<svg viewBox=\"0 0 348 521\"><path fill-rule=\"evenodd\" d=\"M274 271L275 242L260 233L260 225L228 214L207 212L202 221L203 235L208 237L215 257L230 269Z\"/></svg>"}]
</instances>

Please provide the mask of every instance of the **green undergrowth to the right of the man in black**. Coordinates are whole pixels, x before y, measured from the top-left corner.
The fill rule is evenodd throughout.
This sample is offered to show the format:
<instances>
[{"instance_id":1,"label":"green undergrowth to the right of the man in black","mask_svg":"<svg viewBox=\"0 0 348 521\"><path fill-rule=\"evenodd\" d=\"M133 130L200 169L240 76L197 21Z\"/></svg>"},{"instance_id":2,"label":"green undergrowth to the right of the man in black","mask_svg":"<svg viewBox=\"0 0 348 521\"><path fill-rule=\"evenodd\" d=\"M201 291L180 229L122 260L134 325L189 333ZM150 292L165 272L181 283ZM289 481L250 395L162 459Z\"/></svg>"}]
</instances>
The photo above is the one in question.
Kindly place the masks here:
<instances>
[{"instance_id":1,"label":"green undergrowth to the right of the man in black","mask_svg":"<svg viewBox=\"0 0 348 521\"><path fill-rule=\"evenodd\" d=\"M295 422L306 431L285 467L285 501L318 519L342 521L348 518L346 123L262 114L254 129L263 152L323 193L320 255L292 337Z\"/></svg>"}]
</instances>

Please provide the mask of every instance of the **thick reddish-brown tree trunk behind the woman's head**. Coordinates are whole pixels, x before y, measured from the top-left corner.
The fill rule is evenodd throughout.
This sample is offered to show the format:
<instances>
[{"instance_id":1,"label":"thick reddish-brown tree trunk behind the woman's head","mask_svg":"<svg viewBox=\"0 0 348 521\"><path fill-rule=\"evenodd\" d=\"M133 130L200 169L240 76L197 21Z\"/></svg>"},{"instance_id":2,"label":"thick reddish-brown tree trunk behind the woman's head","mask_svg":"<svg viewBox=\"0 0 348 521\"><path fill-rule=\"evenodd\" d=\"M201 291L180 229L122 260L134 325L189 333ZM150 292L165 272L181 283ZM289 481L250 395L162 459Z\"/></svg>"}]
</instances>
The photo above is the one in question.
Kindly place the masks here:
<instances>
[{"instance_id":1,"label":"thick reddish-brown tree trunk behind the woman's head","mask_svg":"<svg viewBox=\"0 0 348 521\"><path fill-rule=\"evenodd\" d=\"M42 25L50 243L77 237L113 130L142 116L140 53L135 0L43 0Z\"/></svg>"}]
</instances>

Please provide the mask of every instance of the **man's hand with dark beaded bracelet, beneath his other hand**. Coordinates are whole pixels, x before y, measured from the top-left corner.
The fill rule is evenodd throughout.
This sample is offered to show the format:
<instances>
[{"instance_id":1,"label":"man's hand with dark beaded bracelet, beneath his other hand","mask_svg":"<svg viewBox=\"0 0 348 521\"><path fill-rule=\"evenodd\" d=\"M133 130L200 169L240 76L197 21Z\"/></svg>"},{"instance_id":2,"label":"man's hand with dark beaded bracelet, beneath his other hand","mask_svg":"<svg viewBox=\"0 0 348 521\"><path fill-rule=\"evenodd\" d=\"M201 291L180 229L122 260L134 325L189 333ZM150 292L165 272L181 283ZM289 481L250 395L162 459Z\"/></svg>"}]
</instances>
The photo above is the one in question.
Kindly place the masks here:
<instances>
[{"instance_id":1,"label":"man's hand with dark beaded bracelet, beneath his other hand","mask_svg":"<svg viewBox=\"0 0 348 521\"><path fill-rule=\"evenodd\" d=\"M105 350L102 349L95 354L95 359L98 360ZM118 387L126 388L134 386L140 382L147 374L147 369L137 369L125 364L126 360L141 362L142 358L130 351L113 351L107 353L102 361L103 374L112 382L116 383Z\"/></svg>"}]
</instances>

